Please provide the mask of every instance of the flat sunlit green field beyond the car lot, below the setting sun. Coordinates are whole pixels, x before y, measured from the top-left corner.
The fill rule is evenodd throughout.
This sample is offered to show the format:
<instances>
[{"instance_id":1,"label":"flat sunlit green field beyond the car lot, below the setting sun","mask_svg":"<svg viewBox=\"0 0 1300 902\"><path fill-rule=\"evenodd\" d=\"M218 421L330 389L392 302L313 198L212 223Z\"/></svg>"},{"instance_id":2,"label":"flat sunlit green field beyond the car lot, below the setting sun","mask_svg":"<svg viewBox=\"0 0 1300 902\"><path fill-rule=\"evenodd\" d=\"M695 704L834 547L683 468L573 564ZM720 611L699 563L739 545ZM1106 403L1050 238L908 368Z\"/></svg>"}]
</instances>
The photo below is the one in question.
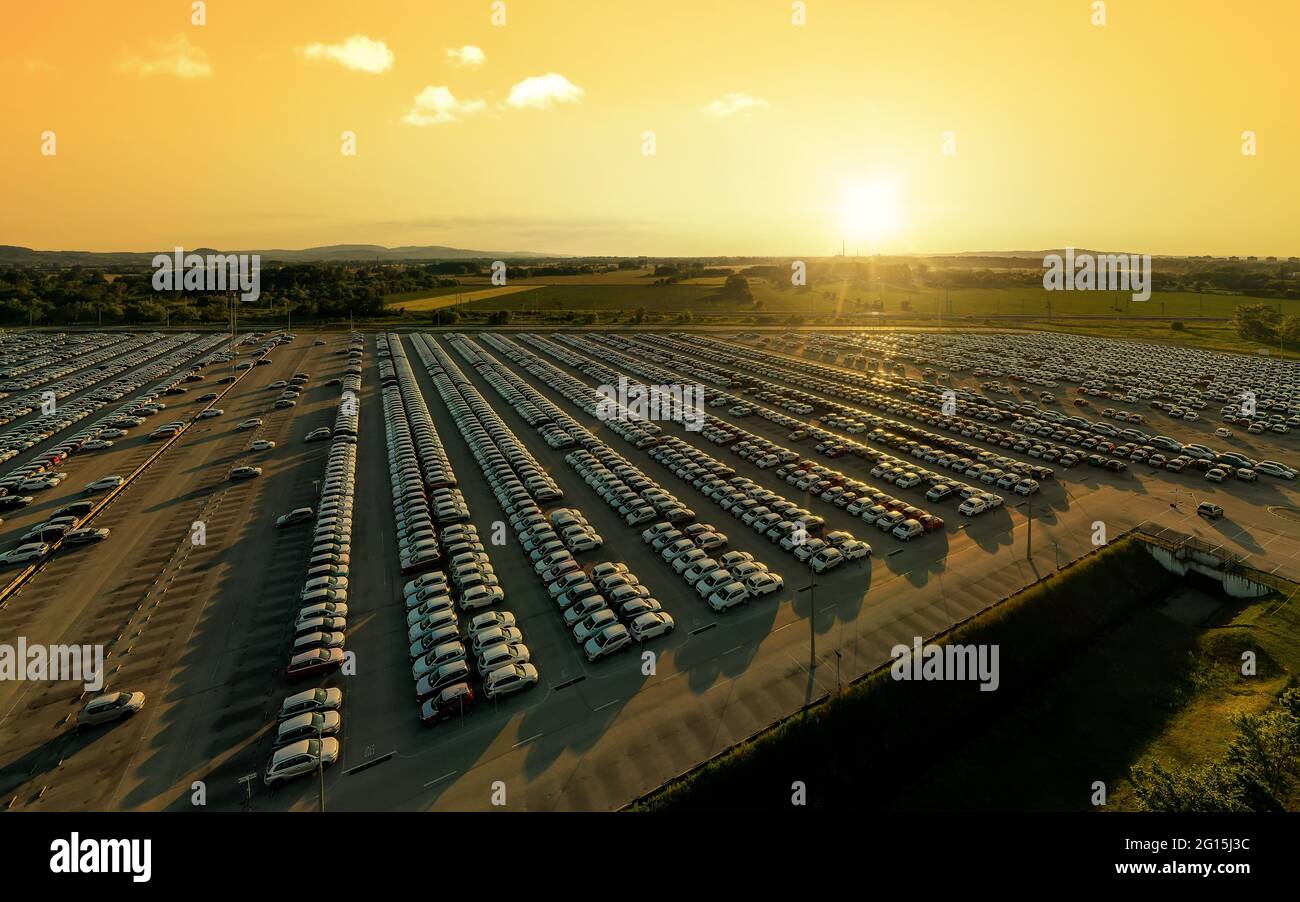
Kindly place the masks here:
<instances>
[{"instance_id":1,"label":"flat sunlit green field beyond the car lot, below the setting sun","mask_svg":"<svg viewBox=\"0 0 1300 902\"><path fill-rule=\"evenodd\" d=\"M511 325L564 325L590 317L594 325L736 325L768 326L984 326L1044 329L1106 338L1184 344L1213 351L1286 357L1300 348L1249 342L1231 322L1238 305L1270 304L1283 315L1300 315L1300 300L1262 300L1245 295L1156 292L1134 302L1123 292L1048 292L1041 287L958 289L946 292L905 286L866 290L848 283L796 289L750 281L753 300L725 295L722 279L673 285L646 281L644 272L520 279L493 289L486 278L467 278L447 289L411 291L386 298L394 313L419 317L455 305L472 322L497 311ZM526 290L525 290L526 286ZM874 308L875 303L883 311ZM1050 304L1050 307L1049 307ZM640 313L638 313L640 312ZM1050 313L1050 317L1049 317ZM1204 318L1202 318L1204 317ZM1174 329L1174 322L1182 329Z\"/></svg>"}]
</instances>

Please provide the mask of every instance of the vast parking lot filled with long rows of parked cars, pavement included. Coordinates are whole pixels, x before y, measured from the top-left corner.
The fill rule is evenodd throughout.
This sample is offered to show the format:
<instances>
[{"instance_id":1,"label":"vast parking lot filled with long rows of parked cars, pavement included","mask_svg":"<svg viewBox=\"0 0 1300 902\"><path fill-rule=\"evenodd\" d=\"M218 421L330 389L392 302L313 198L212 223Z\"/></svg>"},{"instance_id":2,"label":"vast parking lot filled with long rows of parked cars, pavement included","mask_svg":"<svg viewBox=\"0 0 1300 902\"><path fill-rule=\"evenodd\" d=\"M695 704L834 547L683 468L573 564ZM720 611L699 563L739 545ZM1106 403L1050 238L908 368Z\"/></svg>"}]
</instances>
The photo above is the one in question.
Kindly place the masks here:
<instances>
[{"instance_id":1,"label":"vast parking lot filled with long rows of parked cars, pavement included","mask_svg":"<svg viewBox=\"0 0 1300 902\"><path fill-rule=\"evenodd\" d=\"M0 682L14 810L608 810L1098 534L1300 576L1295 363L940 331L114 339L0 346L0 445L36 439L0 465L0 504L32 499L0 552L53 539L0 641L101 643L105 689L146 695L74 730L79 684ZM651 386L702 403L645 416ZM46 391L78 417L49 432Z\"/></svg>"}]
</instances>

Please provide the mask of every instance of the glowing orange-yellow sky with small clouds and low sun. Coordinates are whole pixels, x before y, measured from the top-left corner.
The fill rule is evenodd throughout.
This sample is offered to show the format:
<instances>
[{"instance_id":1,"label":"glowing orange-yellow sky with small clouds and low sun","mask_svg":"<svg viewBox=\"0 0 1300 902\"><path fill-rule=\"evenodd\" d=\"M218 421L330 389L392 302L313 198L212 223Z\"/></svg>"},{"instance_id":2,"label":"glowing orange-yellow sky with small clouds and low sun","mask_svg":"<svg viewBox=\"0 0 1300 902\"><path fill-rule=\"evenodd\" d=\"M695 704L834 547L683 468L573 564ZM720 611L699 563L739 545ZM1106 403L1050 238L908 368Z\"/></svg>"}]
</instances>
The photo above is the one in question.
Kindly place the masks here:
<instances>
[{"instance_id":1,"label":"glowing orange-yellow sky with small clouds and low sun","mask_svg":"<svg viewBox=\"0 0 1300 902\"><path fill-rule=\"evenodd\" d=\"M504 6L5 3L0 243L1300 253L1296 3Z\"/></svg>"}]
</instances>

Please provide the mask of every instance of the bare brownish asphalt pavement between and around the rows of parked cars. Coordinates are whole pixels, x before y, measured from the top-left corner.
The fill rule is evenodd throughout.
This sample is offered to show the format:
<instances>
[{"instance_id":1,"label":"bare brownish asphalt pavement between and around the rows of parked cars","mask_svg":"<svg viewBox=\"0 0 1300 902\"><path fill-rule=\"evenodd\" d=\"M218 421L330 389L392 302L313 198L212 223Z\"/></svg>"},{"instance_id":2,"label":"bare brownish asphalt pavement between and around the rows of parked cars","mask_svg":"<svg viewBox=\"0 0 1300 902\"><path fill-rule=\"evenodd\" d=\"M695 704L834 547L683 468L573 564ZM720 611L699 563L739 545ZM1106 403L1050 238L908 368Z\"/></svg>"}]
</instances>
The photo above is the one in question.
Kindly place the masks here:
<instances>
[{"instance_id":1,"label":"bare brownish asphalt pavement between and around the rows of parked cars","mask_svg":"<svg viewBox=\"0 0 1300 902\"><path fill-rule=\"evenodd\" d=\"M312 810L324 795L332 810L491 810L504 790L508 810L608 810L835 693L885 660L893 645L932 636L1087 554L1098 520L1112 537L1140 522L1174 526L1222 541L1257 567L1300 574L1300 519L1287 513L1300 511L1300 498L1294 487L1262 478L1253 486L1213 486L1144 467L1119 476L1058 468L1058 481L1045 483L1032 500L1027 555L1028 511L1011 507L1023 499L1009 493L1008 507L974 520L958 516L953 502L930 504L919 493L896 493L946 521L941 533L901 543L831 504L805 503L802 493L772 470L759 470L697 433L662 424L667 434L824 516L828 529L848 529L875 548L868 561L840 567L819 576L815 591L800 591L811 578L792 556L755 537L647 451L478 342L481 351L491 352L694 508L699 520L724 532L728 548L751 551L785 577L781 594L716 615L646 548L641 528L616 519L582 482L564 461L567 450L550 448L442 335L430 335L564 491L566 498L551 507L580 508L602 534L604 547L580 559L625 561L677 623L671 636L646 646L653 659L638 647L589 664L512 530L506 530L504 546L490 545L494 525L504 516L407 337L408 359L451 456L471 522L489 546L506 591L502 607L519 617L541 673L540 685L528 691L474 706L463 721L424 728L407 656L404 578L396 563L373 335L367 337L360 394L348 594L347 649L356 669L302 685L283 680L309 529L276 530L273 520L315 498L328 443L304 445L302 437L333 422L338 389L322 382L341 374L346 363L335 354L346 338L330 335L326 347L313 347L313 338L299 333L295 343L273 351L273 364L250 370L222 403L222 417L191 428L124 493L95 522L112 529L109 539L60 554L0 608L0 642L23 636L29 643L104 643L108 688L135 689L150 698L130 721L75 733L69 716L83 701L79 685L0 682L0 807L234 810L251 803L256 810ZM520 344L592 385L558 359ZM796 357L786 359L797 365ZM272 412L277 393L265 386L298 370L312 373L299 407ZM168 409L156 419L195 409L190 400L195 394L202 390L165 399ZM759 417L736 420L725 408L710 412L815 456ZM265 417L256 437L277 441L274 451L243 452L255 435L233 428L251 416ZM1161 420L1158 430L1180 441L1205 441L1214 425ZM1294 460L1294 441L1242 435L1230 445L1252 456ZM68 465L72 477L43 494L39 508L32 504L6 516L0 545L9 547L18 530L78 496L91 480L130 472L151 445L134 435L109 451L75 455ZM228 481L229 469L254 463L251 457L266 468L265 474ZM870 477L870 464L855 457L826 463L879 485ZM1195 516L1201 499L1222 504L1227 516L1216 522ZM196 521L205 524L205 545L190 539ZM260 771L270 753L274 710L285 694L308 685L344 691L342 758L324 780L303 779L272 794L261 785ZM254 773L259 776L251 784L239 782ZM203 806L195 806L196 782ZM755 788L755 793L788 792L788 782Z\"/></svg>"}]
</instances>

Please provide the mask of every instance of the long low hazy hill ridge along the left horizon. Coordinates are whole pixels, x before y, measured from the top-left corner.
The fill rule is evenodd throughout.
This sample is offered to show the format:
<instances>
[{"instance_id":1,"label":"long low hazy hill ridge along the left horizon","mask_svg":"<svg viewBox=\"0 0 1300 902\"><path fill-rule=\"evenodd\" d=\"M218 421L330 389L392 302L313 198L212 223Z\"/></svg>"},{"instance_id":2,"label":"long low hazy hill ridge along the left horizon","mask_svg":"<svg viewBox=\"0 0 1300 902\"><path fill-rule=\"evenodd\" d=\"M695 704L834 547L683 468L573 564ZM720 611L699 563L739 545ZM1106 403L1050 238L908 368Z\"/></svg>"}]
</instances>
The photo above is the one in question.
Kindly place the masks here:
<instances>
[{"instance_id":1,"label":"long low hazy hill ridge along the left horizon","mask_svg":"<svg viewBox=\"0 0 1300 902\"><path fill-rule=\"evenodd\" d=\"M460 247L441 247L437 244L404 247L384 247L382 244L328 244L303 250L229 250L186 248L191 253L259 253L264 261L281 263L348 263L402 260L542 260L562 259L560 253L538 253L536 251L472 251ZM172 253L172 248L159 251L34 251L30 247L0 244L0 265L39 265L62 266L150 266L156 253Z\"/></svg>"}]
</instances>

